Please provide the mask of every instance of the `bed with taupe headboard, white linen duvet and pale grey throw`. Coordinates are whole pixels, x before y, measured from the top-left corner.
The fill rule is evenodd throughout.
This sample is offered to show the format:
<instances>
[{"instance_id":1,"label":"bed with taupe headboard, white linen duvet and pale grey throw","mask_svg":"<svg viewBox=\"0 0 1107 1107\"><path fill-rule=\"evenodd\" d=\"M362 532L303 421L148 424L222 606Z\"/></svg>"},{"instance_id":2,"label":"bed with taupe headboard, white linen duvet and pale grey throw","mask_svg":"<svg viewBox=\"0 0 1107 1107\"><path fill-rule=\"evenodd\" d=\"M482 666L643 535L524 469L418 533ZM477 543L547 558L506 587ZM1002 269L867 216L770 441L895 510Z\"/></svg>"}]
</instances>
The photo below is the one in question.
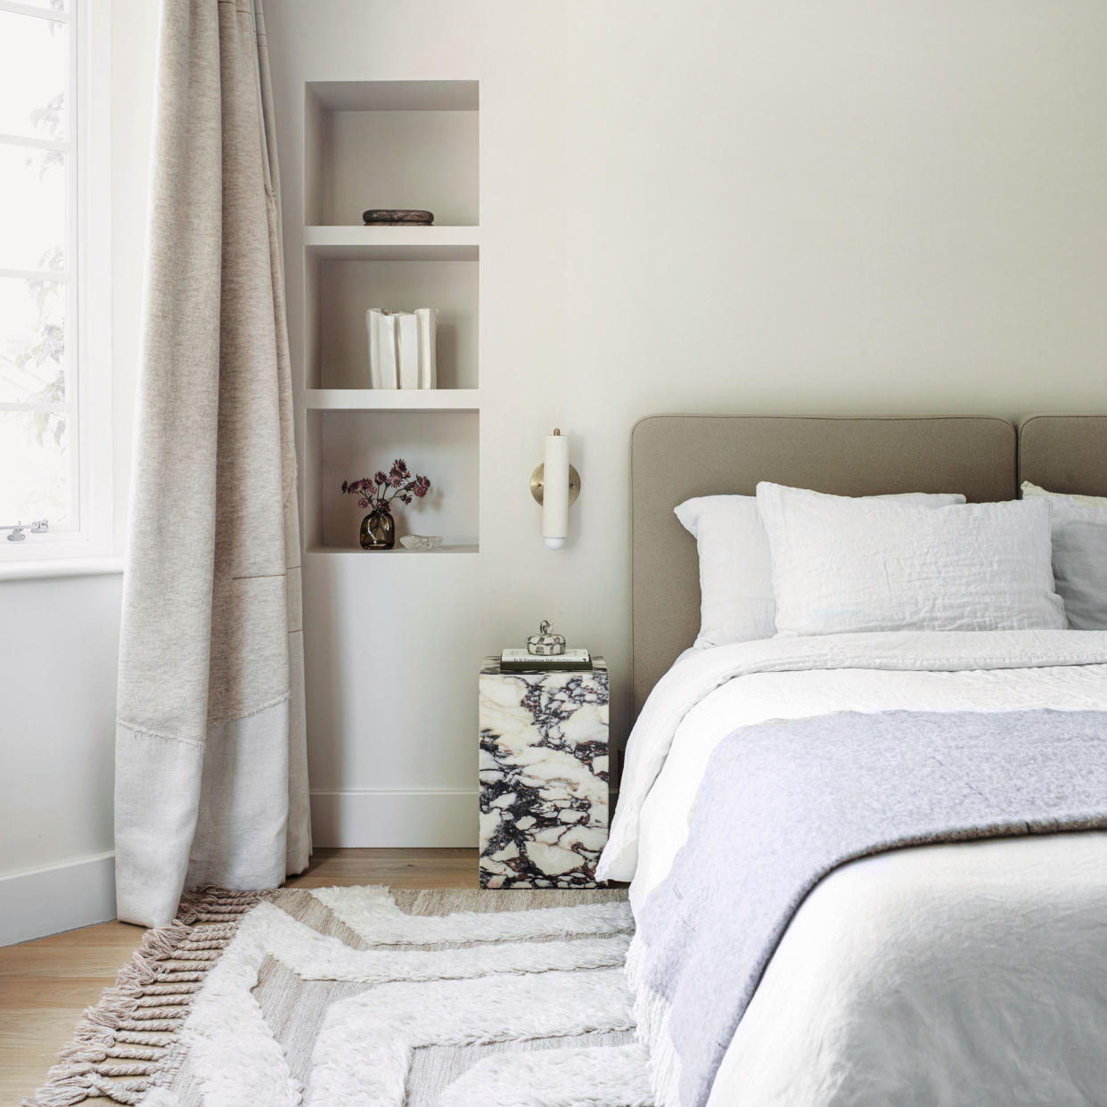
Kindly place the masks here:
<instances>
[{"instance_id":1,"label":"bed with taupe headboard, white linen duvet and pale grey throw","mask_svg":"<svg viewBox=\"0 0 1107 1107\"><path fill-rule=\"evenodd\" d=\"M847 496L956 490L979 504L1013 499L1023 479L1104 496L1105 446L1107 417L1096 416L1020 430L976 417L659 416L635 427L638 722L600 871L631 882L629 973L661 1107L1107 1104L1107 633L832 633L692 651L695 541L673 516L690 497L751 495L761 480ZM950 785L931 780L941 758L928 754L965 720L997 727L987 741L1010 742L997 768L1045 792L1058 765L1042 767L1024 734L1038 720L1057 728L1048 749L1062 769L1079 764L1069 775L1080 784L1061 817L1048 810L1055 823L937 844L923 834L846 863L828 853L757 950L739 949L741 927L712 930L748 918L756 931L761 906L748 903L793 860L766 862L773 842L756 840L774 780L788 778L774 800L786 803L789 788L818 786L815 756L832 765L840 751L836 772L849 756L868 768L882 747L866 743L888 741L876 731L910 723L917 737L897 756L911 787L889 794L904 789L899 808L917 796L932 807ZM715 778L721 753L745 748L736 737L765 733L793 743L765 762L775 776L751 776L756 787ZM851 753L855 741L867 753ZM789 762L789 751L815 753ZM886 773L877 779L897 775Z\"/></svg>"}]
</instances>

